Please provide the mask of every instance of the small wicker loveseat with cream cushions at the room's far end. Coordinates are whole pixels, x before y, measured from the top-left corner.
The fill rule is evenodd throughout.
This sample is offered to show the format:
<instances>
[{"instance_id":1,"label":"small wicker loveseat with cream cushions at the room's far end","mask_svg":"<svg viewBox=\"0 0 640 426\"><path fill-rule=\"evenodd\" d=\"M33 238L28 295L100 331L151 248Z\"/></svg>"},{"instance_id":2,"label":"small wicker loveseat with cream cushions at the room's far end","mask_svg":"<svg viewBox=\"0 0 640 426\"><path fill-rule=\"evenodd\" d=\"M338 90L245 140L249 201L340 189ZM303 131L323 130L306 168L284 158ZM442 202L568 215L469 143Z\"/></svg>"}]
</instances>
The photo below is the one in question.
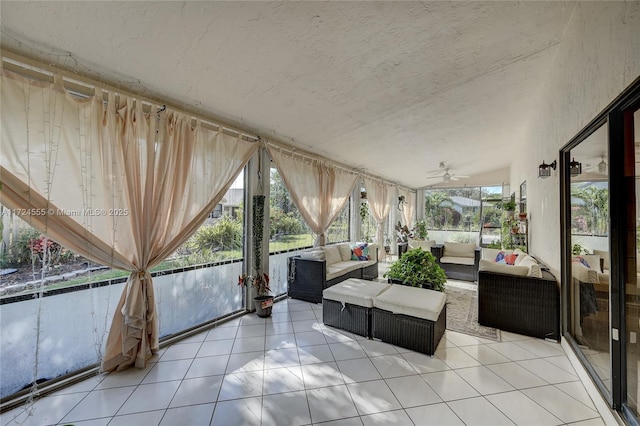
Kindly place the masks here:
<instances>
[{"instance_id":1,"label":"small wicker loveseat with cream cushions at the room's far end","mask_svg":"<svg viewBox=\"0 0 640 426\"><path fill-rule=\"evenodd\" d=\"M444 269L447 278L465 281L478 279L481 249L475 244L449 242L436 244L431 247L431 253Z\"/></svg>"}]
</instances>

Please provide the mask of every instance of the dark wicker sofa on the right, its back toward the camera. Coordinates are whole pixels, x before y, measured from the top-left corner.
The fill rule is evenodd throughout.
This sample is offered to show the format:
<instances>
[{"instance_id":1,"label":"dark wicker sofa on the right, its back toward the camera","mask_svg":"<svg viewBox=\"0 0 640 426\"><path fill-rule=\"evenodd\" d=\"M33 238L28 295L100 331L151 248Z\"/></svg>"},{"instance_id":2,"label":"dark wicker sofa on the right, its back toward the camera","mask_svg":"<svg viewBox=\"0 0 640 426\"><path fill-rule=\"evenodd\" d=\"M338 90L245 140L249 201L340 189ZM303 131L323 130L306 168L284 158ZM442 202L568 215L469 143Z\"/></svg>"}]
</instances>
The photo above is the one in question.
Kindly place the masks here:
<instances>
[{"instance_id":1,"label":"dark wicker sofa on the right, its back toward the camera","mask_svg":"<svg viewBox=\"0 0 640 426\"><path fill-rule=\"evenodd\" d=\"M558 282L533 257L526 253L518 257L522 257L518 265L497 264L485 258L480 260L478 322L504 331L559 342Z\"/></svg>"}]
</instances>

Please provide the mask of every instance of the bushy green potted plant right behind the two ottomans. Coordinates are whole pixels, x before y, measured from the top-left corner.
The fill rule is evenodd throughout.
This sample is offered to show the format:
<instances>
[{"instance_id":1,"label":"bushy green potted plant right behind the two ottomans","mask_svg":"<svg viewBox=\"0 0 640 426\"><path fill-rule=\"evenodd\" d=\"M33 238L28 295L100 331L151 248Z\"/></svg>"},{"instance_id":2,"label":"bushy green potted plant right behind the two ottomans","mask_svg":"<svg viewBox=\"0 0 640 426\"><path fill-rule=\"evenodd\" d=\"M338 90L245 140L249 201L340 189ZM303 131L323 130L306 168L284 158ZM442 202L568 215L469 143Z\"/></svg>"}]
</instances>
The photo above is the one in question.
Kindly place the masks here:
<instances>
[{"instance_id":1,"label":"bushy green potted plant right behind the two ottomans","mask_svg":"<svg viewBox=\"0 0 640 426\"><path fill-rule=\"evenodd\" d=\"M444 269L431 252L417 249L409 250L393 262L383 275L389 282L444 291L447 276Z\"/></svg>"}]
</instances>

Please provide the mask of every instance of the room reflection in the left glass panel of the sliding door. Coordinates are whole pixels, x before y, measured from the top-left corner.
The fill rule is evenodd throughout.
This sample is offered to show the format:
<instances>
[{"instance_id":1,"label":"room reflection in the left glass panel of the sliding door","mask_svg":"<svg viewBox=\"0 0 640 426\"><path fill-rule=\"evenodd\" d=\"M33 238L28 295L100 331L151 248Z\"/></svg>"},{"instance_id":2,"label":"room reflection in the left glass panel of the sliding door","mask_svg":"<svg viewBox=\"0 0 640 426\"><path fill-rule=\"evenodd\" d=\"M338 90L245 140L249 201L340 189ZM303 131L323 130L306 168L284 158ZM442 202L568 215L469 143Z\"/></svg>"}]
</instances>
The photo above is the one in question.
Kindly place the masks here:
<instances>
[{"instance_id":1,"label":"room reflection in the left glass panel of the sliding door","mask_svg":"<svg viewBox=\"0 0 640 426\"><path fill-rule=\"evenodd\" d=\"M571 333L611 391L607 126L571 150Z\"/></svg>"}]
</instances>

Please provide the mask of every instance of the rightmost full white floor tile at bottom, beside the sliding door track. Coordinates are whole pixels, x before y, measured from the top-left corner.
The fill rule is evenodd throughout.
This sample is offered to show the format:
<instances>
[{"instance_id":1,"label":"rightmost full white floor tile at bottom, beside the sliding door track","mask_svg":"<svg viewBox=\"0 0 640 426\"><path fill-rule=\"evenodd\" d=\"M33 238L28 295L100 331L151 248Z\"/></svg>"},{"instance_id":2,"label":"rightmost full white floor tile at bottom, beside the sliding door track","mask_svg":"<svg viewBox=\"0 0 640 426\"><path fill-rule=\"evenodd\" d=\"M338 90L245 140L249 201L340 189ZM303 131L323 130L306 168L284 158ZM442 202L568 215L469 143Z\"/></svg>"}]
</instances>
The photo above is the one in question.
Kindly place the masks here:
<instances>
[{"instance_id":1,"label":"rightmost full white floor tile at bottom, beside the sliding door track","mask_svg":"<svg viewBox=\"0 0 640 426\"><path fill-rule=\"evenodd\" d=\"M521 391L565 423L599 417L598 413L553 386Z\"/></svg>"}]
</instances>

